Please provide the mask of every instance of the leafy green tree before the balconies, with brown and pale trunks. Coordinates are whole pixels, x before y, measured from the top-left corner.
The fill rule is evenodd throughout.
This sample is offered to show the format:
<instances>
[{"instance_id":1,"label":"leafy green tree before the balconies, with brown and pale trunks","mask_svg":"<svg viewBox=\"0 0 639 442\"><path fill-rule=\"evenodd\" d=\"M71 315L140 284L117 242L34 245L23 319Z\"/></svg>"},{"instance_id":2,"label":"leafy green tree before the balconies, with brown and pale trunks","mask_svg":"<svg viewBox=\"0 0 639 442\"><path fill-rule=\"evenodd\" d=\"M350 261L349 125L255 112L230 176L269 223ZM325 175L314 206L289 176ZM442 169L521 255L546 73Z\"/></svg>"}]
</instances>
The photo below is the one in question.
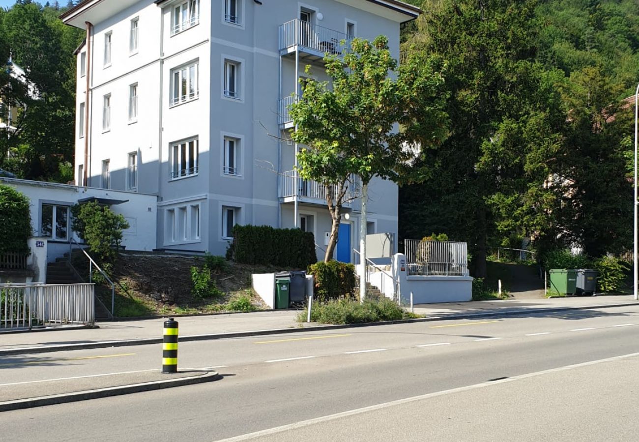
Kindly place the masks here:
<instances>
[{"instance_id":1,"label":"leafy green tree before the balconies, with brown and pale trunks","mask_svg":"<svg viewBox=\"0 0 639 442\"><path fill-rule=\"evenodd\" d=\"M325 260L332 257L341 220L341 202L349 177L362 188L360 259L366 263L367 187L374 176L398 183L420 179L410 166L414 149L425 151L446 135L442 112L443 68L439 59L413 54L397 69L388 39L369 42L355 39L343 58L327 54L326 72L331 81L305 84L304 100L291 106L296 125L291 137L307 148L298 154L298 169L305 179L327 187L332 217L330 244ZM307 67L307 72L309 68ZM397 124L402 130L397 130ZM337 192L328 191L335 186ZM365 277L362 271L361 277ZM366 284L360 284L363 298Z\"/></svg>"}]
</instances>

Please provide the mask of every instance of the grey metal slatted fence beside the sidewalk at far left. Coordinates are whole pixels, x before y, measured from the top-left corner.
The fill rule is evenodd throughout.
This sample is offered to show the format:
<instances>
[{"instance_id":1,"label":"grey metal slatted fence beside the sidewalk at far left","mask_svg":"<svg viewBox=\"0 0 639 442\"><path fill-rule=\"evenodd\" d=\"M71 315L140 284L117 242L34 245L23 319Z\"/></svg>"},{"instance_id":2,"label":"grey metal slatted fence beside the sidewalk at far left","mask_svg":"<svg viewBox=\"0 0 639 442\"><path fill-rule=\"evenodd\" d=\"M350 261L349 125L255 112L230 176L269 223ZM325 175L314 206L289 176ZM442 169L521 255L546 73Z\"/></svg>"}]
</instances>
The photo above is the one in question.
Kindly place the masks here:
<instances>
[{"instance_id":1,"label":"grey metal slatted fence beside the sidewalk at far left","mask_svg":"<svg viewBox=\"0 0 639 442\"><path fill-rule=\"evenodd\" d=\"M0 331L95 323L95 284L0 284Z\"/></svg>"}]
</instances>

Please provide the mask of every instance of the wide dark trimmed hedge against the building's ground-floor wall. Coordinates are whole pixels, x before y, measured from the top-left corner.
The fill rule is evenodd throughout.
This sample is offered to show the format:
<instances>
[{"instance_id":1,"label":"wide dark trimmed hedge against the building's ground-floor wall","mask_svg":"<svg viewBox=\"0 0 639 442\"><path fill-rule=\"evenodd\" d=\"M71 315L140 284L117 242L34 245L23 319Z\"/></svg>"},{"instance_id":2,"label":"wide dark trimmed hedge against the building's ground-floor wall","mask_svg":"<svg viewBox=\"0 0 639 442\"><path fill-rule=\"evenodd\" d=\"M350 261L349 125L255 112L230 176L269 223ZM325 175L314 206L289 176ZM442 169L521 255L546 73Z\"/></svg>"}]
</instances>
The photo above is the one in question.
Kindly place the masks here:
<instances>
[{"instance_id":1,"label":"wide dark trimmed hedge against the building's ground-floor wall","mask_svg":"<svg viewBox=\"0 0 639 442\"><path fill-rule=\"evenodd\" d=\"M317 261L311 232L275 229L269 225L233 227L231 255L236 263L289 268L307 268Z\"/></svg>"}]
</instances>

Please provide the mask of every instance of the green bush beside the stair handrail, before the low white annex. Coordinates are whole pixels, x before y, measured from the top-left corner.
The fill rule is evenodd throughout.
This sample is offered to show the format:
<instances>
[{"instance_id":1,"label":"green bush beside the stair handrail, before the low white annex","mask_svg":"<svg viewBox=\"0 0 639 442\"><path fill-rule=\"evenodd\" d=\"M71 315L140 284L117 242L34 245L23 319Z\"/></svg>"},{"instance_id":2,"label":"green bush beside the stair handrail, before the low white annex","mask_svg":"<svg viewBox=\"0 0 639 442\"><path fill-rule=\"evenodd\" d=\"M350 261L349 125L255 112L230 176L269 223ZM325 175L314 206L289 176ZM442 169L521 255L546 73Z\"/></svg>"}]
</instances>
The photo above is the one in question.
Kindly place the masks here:
<instances>
[{"instance_id":1,"label":"green bush beside the stair handrail, before the low white annex","mask_svg":"<svg viewBox=\"0 0 639 442\"><path fill-rule=\"evenodd\" d=\"M114 213L97 202L75 204L71 208L72 229L89 245L89 250L100 261L113 263L118 256L122 231L128 229L127 220L121 213Z\"/></svg>"}]
</instances>

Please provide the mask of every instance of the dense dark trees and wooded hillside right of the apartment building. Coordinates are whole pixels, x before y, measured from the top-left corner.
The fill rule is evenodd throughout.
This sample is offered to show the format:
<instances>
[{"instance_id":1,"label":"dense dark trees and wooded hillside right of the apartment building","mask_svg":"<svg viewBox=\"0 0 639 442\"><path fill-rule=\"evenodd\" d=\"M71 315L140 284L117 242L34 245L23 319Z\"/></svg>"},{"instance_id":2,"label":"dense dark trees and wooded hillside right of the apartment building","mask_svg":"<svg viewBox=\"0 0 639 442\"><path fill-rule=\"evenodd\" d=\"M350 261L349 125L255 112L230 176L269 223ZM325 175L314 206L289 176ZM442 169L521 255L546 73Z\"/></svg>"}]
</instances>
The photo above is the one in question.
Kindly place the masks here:
<instances>
[{"instance_id":1,"label":"dense dark trees and wooded hillside right of the apartment building","mask_svg":"<svg viewBox=\"0 0 639 442\"><path fill-rule=\"evenodd\" d=\"M400 235L489 246L632 244L635 0L426 0L403 50L448 63L447 141L424 153L431 177L400 190ZM634 100L632 101L634 104Z\"/></svg>"}]
</instances>

